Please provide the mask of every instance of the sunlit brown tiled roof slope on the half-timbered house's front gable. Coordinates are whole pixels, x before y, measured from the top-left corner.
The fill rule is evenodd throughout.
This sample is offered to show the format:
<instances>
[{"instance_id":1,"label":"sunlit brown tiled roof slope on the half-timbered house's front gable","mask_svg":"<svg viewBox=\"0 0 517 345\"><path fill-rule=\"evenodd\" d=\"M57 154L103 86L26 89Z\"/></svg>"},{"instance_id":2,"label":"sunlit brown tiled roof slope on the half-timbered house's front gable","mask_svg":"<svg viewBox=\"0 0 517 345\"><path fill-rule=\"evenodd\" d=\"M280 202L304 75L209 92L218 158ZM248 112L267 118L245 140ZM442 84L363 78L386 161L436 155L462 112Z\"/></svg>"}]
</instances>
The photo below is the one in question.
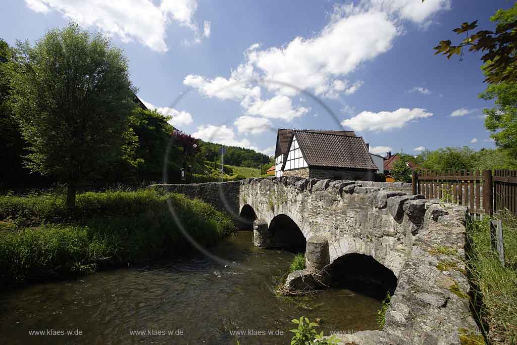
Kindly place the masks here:
<instances>
[{"instance_id":1,"label":"sunlit brown tiled roof slope on the half-timbered house's front gable","mask_svg":"<svg viewBox=\"0 0 517 345\"><path fill-rule=\"evenodd\" d=\"M377 170L362 137L310 130L294 133L309 166Z\"/></svg>"}]
</instances>

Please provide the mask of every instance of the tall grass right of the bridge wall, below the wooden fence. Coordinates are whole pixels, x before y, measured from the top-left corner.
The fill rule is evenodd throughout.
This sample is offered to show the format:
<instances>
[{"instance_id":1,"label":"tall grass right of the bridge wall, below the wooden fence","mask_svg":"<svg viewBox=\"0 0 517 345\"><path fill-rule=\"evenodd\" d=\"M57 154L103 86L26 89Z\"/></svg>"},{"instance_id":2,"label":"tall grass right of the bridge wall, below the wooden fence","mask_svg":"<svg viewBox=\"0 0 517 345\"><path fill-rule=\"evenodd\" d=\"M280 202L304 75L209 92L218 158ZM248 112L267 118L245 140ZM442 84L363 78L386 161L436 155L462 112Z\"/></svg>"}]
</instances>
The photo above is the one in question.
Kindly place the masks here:
<instances>
[{"instance_id":1,"label":"tall grass right of the bridge wall, below the wooden fence","mask_svg":"<svg viewBox=\"0 0 517 345\"><path fill-rule=\"evenodd\" d=\"M480 306L476 314L484 324L490 344L517 343L517 218L501 212L503 219L505 265L490 246L489 219L471 222L467 228L470 250L470 279Z\"/></svg>"}]
</instances>

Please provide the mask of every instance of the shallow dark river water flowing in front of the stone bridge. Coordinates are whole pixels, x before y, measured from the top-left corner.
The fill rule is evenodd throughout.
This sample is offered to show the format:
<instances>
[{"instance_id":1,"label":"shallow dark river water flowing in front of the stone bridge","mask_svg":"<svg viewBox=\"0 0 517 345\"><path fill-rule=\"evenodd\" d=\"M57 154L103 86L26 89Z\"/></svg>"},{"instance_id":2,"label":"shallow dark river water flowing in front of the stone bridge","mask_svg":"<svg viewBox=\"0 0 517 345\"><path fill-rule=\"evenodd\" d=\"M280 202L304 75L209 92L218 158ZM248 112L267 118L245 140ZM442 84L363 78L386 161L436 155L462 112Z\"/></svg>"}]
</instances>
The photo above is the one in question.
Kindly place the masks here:
<instances>
[{"instance_id":1,"label":"shallow dark river water flowing in front of the stone bridge","mask_svg":"<svg viewBox=\"0 0 517 345\"><path fill-rule=\"evenodd\" d=\"M4 293L0 344L235 344L236 339L242 345L288 344L291 320L302 315L321 319L318 331L325 334L377 327L381 302L349 290L277 297L277 276L287 271L294 254L254 247L250 231L210 250L242 267L194 254ZM62 331L65 335L51 335Z\"/></svg>"}]
</instances>

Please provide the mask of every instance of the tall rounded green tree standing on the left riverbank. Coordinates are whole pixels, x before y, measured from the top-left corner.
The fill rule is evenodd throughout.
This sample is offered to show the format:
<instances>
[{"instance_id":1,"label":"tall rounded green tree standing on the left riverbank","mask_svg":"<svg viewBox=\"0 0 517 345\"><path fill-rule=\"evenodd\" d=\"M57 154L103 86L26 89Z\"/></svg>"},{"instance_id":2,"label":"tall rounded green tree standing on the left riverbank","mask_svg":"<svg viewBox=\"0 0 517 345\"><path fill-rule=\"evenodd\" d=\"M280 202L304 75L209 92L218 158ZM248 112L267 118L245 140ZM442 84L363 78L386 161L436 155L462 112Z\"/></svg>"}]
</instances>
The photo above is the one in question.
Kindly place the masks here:
<instances>
[{"instance_id":1,"label":"tall rounded green tree standing on the left riverbank","mask_svg":"<svg viewBox=\"0 0 517 345\"><path fill-rule=\"evenodd\" d=\"M33 46L18 42L11 72L11 107L29 144L26 165L67 183L72 207L78 184L124 154L135 107L127 58L108 38L71 23Z\"/></svg>"}]
</instances>

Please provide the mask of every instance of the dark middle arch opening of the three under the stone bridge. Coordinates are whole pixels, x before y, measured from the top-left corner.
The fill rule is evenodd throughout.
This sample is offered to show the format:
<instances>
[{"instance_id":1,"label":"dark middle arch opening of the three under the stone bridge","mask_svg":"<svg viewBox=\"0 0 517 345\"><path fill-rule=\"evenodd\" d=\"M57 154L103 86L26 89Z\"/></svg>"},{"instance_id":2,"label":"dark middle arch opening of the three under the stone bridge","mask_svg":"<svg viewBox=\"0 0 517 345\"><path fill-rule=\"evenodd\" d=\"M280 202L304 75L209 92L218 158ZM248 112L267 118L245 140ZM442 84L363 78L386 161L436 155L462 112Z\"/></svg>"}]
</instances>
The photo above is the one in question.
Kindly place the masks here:
<instances>
[{"instance_id":1,"label":"dark middle arch opening of the three under the stone bridge","mask_svg":"<svg viewBox=\"0 0 517 345\"><path fill-rule=\"evenodd\" d=\"M289 216L279 214L271 219L269 233L272 246L292 252L305 252L307 240L298 224Z\"/></svg>"}]
</instances>

